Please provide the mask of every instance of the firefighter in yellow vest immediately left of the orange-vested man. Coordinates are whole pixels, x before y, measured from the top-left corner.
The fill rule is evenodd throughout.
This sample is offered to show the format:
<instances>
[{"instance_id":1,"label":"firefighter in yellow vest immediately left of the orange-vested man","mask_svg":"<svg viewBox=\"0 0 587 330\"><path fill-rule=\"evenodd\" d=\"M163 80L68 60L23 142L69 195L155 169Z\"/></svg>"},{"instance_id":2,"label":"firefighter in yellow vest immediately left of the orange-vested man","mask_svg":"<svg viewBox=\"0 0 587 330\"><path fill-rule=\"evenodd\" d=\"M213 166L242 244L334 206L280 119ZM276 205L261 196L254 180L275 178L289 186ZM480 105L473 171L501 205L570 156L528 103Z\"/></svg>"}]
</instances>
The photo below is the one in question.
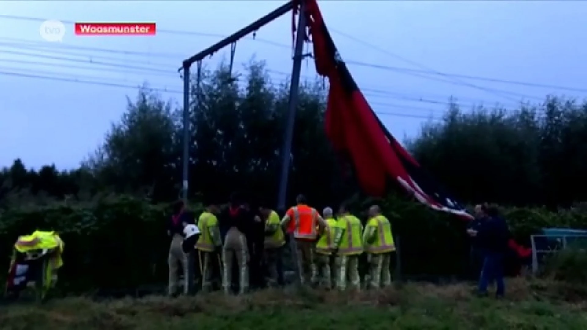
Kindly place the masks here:
<instances>
[{"instance_id":1,"label":"firefighter in yellow vest immediately left of the orange-vested man","mask_svg":"<svg viewBox=\"0 0 587 330\"><path fill-rule=\"evenodd\" d=\"M267 285L276 287L283 281L282 255L285 245L285 234L279 225L279 215L271 208L261 206L259 213L265 219L265 264L269 277Z\"/></svg>"}]
</instances>

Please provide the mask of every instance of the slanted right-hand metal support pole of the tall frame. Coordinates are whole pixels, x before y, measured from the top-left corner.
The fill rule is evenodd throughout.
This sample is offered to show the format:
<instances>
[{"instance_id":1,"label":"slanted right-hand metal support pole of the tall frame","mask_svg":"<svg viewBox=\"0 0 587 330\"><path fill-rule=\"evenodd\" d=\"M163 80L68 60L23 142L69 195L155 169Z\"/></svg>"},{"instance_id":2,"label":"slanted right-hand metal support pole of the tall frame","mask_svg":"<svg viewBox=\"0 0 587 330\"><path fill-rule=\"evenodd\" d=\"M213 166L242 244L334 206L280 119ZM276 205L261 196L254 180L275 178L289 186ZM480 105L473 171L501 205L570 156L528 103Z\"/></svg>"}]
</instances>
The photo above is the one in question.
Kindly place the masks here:
<instances>
[{"instance_id":1,"label":"slanted right-hand metal support pole of the tall frame","mask_svg":"<svg viewBox=\"0 0 587 330\"><path fill-rule=\"evenodd\" d=\"M285 200L288 190L289 167L291 165L292 140L294 139L294 124L296 110L298 109L298 89L299 76L302 70L303 42L306 33L306 14L305 1L299 1L298 9L298 31L296 33L294 49L294 65L292 66L291 83L289 86L289 110L285 122L284 144L281 148L281 177L279 179L279 191L277 209L280 213L285 213ZM293 9L295 11L295 8ZM289 235L289 247L291 248L292 261L296 273L296 282L300 283L300 275L303 270L300 269L298 262L298 249L293 235Z\"/></svg>"}]
</instances>

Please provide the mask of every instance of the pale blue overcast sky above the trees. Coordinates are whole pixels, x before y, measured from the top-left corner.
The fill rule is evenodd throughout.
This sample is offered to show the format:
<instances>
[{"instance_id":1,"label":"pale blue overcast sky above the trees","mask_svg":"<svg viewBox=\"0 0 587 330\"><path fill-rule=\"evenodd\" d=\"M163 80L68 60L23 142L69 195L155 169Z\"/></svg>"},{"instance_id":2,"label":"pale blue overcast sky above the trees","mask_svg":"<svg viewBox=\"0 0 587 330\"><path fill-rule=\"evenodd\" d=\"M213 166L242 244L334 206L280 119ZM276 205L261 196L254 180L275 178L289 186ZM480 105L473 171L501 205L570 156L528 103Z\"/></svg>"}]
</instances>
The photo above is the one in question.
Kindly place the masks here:
<instances>
[{"instance_id":1,"label":"pale blue overcast sky above the trees","mask_svg":"<svg viewBox=\"0 0 587 330\"><path fill-rule=\"evenodd\" d=\"M283 3L1 1L0 166L9 166L20 157L27 167L50 163L60 169L76 167L102 142L110 123L120 118L126 96L136 95L133 86L148 81L151 87L168 90L161 93L165 98L180 102L177 92L182 82L176 70L184 58ZM587 89L587 2L322 0L319 5L343 59L349 63ZM63 42L49 43L39 35L44 19L154 21L158 29L167 31L142 37L75 36L73 25L66 23ZM291 15L266 26L257 36L274 44L239 42L237 63L247 62L256 53L275 71L272 77L285 78L284 73L291 71ZM222 53L207 64L214 65L220 59ZM129 73L120 65L144 69ZM434 74L414 76L356 64L349 64L349 68L373 109L399 139L416 134L426 117L440 117L450 96L469 109L474 104L497 102L515 107L521 100L537 102L547 94L580 99L587 94ZM313 63L303 65L302 70L304 76L315 75Z\"/></svg>"}]
</instances>

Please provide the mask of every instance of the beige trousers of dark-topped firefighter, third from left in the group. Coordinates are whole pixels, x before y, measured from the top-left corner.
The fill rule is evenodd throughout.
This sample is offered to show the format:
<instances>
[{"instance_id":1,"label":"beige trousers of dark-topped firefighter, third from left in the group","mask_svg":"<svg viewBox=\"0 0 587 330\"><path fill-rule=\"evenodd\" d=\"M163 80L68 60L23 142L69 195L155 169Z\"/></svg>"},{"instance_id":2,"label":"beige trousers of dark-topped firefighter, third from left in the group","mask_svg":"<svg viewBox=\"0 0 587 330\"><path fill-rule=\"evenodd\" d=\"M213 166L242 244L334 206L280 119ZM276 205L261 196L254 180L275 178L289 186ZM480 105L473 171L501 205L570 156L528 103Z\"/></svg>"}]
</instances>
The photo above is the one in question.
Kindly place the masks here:
<instances>
[{"instance_id":1,"label":"beige trousers of dark-topped firefighter, third from left in the group","mask_svg":"<svg viewBox=\"0 0 587 330\"><path fill-rule=\"evenodd\" d=\"M238 266L239 291L247 292L249 288L249 253L247 238L237 228L228 230L222 247L222 288L225 293L230 293L232 285L232 262L236 260Z\"/></svg>"}]
</instances>

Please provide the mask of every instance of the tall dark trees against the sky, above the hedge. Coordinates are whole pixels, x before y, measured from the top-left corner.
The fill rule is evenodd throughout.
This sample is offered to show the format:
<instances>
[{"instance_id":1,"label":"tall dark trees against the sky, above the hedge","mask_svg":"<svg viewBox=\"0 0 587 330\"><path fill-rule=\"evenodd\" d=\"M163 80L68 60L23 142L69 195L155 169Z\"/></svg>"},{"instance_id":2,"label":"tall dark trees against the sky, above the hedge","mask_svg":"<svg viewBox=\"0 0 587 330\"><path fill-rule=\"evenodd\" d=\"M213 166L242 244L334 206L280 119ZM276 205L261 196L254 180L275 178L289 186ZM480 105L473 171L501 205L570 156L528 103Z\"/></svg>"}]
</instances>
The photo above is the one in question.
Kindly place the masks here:
<instances>
[{"instance_id":1,"label":"tall dark trees against the sky, above the hedge","mask_svg":"<svg viewBox=\"0 0 587 330\"><path fill-rule=\"evenodd\" d=\"M193 84L190 196L225 198L241 190L275 202L288 83L273 81L262 61L232 76L221 64L203 70L199 89ZM342 179L348 169L323 132L326 92L319 80L302 83L289 180L289 196L305 193L317 206L357 191ZM121 193L174 200L182 141L181 109L145 86L79 168L32 170L17 159L2 169L0 207ZM473 110L453 102L406 145L464 203L558 208L587 200L586 102L548 96L517 109Z\"/></svg>"}]
</instances>

